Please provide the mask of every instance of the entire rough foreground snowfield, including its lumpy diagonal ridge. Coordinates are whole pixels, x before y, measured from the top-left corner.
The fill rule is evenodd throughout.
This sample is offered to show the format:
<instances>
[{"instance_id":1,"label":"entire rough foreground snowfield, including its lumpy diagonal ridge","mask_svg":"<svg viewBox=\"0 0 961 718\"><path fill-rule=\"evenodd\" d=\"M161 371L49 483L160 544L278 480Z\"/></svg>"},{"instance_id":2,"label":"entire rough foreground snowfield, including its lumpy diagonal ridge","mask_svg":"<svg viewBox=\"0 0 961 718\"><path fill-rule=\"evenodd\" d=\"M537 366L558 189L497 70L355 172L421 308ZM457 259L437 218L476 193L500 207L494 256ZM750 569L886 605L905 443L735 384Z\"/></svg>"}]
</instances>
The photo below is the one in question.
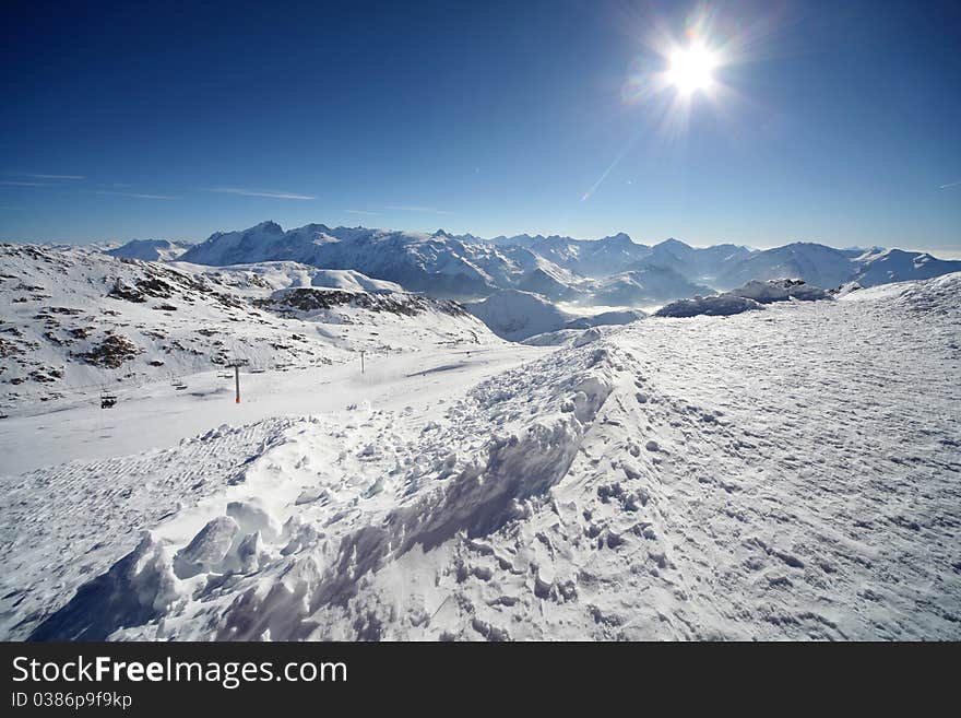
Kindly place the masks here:
<instances>
[{"instance_id":1,"label":"entire rough foreground snowfield, including its lumpy diagonal ridge","mask_svg":"<svg viewBox=\"0 0 961 718\"><path fill-rule=\"evenodd\" d=\"M959 290L651 318L7 480L3 632L959 639Z\"/></svg>"}]
</instances>

